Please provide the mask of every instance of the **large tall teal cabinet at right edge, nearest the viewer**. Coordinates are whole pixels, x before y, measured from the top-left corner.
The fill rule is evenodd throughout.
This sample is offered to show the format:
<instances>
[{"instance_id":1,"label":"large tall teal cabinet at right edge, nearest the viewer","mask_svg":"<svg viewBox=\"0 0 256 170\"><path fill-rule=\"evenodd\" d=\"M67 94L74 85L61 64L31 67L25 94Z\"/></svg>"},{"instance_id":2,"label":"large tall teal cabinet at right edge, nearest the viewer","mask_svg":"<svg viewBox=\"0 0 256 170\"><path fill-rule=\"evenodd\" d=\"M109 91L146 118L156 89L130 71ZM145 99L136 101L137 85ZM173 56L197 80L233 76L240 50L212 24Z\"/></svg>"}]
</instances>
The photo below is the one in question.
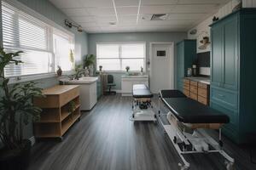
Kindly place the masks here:
<instances>
[{"instance_id":1,"label":"large tall teal cabinet at right edge, nearest the viewer","mask_svg":"<svg viewBox=\"0 0 256 170\"><path fill-rule=\"evenodd\" d=\"M256 134L256 9L211 25L211 106L230 116L223 132L236 143Z\"/></svg>"}]
</instances>

